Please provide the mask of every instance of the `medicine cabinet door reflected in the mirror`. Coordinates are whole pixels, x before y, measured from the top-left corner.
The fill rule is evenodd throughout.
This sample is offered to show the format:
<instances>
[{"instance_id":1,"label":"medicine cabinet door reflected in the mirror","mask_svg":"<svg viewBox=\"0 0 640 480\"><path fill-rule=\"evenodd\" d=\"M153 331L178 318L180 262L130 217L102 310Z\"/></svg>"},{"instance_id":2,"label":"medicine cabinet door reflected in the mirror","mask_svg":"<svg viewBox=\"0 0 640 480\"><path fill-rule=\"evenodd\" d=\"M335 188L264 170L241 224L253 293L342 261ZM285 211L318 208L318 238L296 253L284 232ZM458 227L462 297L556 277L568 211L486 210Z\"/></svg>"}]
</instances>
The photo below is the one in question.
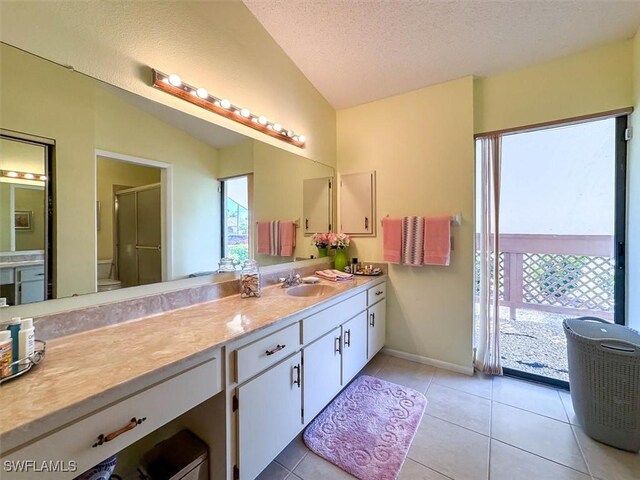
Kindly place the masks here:
<instances>
[{"instance_id":1,"label":"medicine cabinet door reflected in the mirror","mask_svg":"<svg viewBox=\"0 0 640 480\"><path fill-rule=\"evenodd\" d=\"M332 177L307 178L302 181L302 228L305 234L331 230Z\"/></svg>"}]
</instances>

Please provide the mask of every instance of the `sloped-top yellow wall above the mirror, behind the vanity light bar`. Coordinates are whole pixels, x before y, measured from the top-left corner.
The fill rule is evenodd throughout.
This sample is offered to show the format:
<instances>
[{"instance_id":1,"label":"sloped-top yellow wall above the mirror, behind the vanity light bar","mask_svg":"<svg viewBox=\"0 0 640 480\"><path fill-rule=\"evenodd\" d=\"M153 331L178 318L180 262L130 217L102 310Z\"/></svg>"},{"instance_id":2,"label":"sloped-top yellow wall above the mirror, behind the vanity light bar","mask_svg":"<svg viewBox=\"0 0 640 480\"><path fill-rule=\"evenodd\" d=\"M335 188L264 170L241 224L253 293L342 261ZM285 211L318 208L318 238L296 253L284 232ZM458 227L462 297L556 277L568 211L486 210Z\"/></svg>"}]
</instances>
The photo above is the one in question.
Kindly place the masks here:
<instances>
[{"instance_id":1,"label":"sloped-top yellow wall above the mirror, behind the vanity light bar","mask_svg":"<svg viewBox=\"0 0 640 480\"><path fill-rule=\"evenodd\" d=\"M0 39L279 148L335 165L335 110L239 1L0 2ZM179 73L304 134L306 149L150 87Z\"/></svg>"}]
</instances>

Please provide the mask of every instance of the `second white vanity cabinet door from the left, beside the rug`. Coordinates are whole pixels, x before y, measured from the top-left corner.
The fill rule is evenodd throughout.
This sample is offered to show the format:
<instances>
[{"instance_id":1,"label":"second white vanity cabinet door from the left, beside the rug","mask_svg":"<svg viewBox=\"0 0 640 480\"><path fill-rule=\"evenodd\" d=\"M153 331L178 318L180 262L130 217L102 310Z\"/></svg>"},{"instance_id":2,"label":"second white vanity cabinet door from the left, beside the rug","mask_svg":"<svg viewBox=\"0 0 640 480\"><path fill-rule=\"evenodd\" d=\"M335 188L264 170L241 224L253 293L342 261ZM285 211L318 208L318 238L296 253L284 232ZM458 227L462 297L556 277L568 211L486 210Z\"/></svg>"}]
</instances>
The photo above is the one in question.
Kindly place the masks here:
<instances>
[{"instance_id":1,"label":"second white vanity cabinet door from the left, beside the rug","mask_svg":"<svg viewBox=\"0 0 640 480\"><path fill-rule=\"evenodd\" d=\"M309 423L340 391L341 327L303 349L304 423Z\"/></svg>"}]
</instances>

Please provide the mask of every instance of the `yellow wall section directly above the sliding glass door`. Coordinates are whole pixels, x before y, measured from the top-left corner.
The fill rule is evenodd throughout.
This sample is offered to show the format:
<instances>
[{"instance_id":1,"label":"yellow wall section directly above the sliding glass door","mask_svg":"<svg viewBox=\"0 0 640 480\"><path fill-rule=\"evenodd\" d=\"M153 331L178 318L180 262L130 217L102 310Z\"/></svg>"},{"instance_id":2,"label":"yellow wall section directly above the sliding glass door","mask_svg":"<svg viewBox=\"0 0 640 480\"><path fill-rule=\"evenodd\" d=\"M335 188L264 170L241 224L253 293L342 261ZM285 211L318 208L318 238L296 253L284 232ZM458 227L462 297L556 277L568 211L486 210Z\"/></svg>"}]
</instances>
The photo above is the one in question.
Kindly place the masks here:
<instances>
[{"instance_id":1,"label":"yellow wall section directly above the sliding glass door","mask_svg":"<svg viewBox=\"0 0 640 480\"><path fill-rule=\"evenodd\" d=\"M475 80L475 132L605 112L633 104L631 40Z\"/></svg>"}]
</instances>

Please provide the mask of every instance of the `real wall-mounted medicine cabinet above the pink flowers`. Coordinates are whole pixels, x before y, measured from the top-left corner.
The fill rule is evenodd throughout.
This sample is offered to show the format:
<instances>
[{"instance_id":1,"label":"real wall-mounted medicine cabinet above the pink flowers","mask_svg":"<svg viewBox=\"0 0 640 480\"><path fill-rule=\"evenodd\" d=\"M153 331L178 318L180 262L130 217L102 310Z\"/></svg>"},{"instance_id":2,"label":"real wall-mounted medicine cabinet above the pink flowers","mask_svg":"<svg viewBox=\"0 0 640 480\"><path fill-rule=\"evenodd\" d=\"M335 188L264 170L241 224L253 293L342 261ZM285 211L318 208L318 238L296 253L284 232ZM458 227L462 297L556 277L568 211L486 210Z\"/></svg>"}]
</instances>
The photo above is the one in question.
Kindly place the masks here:
<instances>
[{"instance_id":1,"label":"real wall-mounted medicine cabinet above the pink flowers","mask_svg":"<svg viewBox=\"0 0 640 480\"><path fill-rule=\"evenodd\" d=\"M340 231L350 235L375 233L375 172L340 176Z\"/></svg>"}]
</instances>

